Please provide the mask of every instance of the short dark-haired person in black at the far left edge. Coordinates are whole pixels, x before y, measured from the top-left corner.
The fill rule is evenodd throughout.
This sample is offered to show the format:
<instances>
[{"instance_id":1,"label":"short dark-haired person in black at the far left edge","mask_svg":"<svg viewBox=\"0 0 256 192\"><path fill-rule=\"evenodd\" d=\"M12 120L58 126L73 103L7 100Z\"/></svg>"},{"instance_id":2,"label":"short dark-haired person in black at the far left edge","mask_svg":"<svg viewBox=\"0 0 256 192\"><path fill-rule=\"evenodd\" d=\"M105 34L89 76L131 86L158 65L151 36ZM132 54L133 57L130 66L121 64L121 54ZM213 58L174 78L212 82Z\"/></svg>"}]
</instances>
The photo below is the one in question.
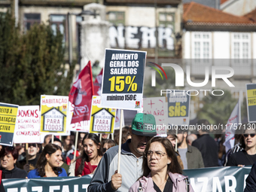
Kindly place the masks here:
<instances>
[{"instance_id":1,"label":"short dark-haired person in black at the far left edge","mask_svg":"<svg viewBox=\"0 0 256 192\"><path fill-rule=\"evenodd\" d=\"M25 170L16 166L19 151L14 147L4 147L0 151L2 178L26 178L28 174Z\"/></svg>"}]
</instances>

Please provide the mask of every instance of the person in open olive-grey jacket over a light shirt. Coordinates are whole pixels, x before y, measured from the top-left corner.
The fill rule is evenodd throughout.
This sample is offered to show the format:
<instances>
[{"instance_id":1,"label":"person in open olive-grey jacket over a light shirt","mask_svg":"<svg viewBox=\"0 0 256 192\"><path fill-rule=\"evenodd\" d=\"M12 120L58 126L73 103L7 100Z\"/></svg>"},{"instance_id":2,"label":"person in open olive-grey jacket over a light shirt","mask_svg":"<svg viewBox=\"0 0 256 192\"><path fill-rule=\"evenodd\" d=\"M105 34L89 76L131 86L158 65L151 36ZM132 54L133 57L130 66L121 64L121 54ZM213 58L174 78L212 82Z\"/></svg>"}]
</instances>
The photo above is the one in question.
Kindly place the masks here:
<instances>
[{"instance_id":1,"label":"person in open olive-grey jacket over a light shirt","mask_svg":"<svg viewBox=\"0 0 256 192\"><path fill-rule=\"evenodd\" d=\"M187 145L187 131L178 130L178 153L181 155L181 160L184 169L203 168L203 157L201 152L190 145Z\"/></svg>"}]
</instances>

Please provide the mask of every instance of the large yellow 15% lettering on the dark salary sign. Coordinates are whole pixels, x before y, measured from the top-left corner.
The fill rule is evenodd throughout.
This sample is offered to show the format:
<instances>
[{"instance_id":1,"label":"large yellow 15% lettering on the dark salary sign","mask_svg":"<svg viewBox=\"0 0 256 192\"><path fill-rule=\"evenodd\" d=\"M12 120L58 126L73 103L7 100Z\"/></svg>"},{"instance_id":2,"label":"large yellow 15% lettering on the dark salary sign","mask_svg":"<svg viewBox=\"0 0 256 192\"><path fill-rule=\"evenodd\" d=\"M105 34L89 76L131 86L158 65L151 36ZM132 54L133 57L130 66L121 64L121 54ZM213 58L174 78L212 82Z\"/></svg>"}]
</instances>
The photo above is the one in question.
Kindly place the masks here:
<instances>
[{"instance_id":1,"label":"large yellow 15% lettering on the dark salary sign","mask_svg":"<svg viewBox=\"0 0 256 192\"><path fill-rule=\"evenodd\" d=\"M127 91L129 92L130 90L136 91L138 88L138 85L136 83L133 83L135 80L135 76L133 76L133 79L131 76L117 76L117 77L112 77L109 78L108 81L111 82L110 85L110 91L117 90L118 92L122 92L124 90L125 84L129 85Z\"/></svg>"}]
</instances>

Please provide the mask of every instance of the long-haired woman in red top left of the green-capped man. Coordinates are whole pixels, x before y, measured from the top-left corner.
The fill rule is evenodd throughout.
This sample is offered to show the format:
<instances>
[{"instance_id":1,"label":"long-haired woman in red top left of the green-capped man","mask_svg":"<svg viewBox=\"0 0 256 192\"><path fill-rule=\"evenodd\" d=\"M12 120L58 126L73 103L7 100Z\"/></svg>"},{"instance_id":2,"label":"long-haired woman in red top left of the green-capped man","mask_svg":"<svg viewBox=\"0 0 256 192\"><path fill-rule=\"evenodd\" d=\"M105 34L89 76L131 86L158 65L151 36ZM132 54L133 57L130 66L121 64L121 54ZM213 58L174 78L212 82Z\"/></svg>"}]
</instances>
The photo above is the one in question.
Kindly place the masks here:
<instances>
[{"instance_id":1,"label":"long-haired woman in red top left of the green-capped man","mask_svg":"<svg viewBox=\"0 0 256 192\"><path fill-rule=\"evenodd\" d=\"M93 174L102 159L102 148L99 137L94 133L88 133L82 141L84 150L75 163L75 176Z\"/></svg>"}]
</instances>

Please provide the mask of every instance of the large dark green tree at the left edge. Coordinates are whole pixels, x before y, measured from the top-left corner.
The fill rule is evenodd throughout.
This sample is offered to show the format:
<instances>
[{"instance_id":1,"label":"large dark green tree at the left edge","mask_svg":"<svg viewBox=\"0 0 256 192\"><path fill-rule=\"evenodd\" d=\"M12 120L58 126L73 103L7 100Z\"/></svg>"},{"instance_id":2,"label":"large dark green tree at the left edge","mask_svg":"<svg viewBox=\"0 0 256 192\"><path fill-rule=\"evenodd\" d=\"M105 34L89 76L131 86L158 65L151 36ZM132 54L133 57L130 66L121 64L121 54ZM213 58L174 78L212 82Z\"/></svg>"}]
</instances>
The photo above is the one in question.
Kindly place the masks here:
<instances>
[{"instance_id":1,"label":"large dark green tree at the left edge","mask_svg":"<svg viewBox=\"0 0 256 192\"><path fill-rule=\"evenodd\" d=\"M73 69L66 72L62 34L32 26L25 35L11 14L0 15L0 102L39 105L40 96L68 96Z\"/></svg>"}]
</instances>

